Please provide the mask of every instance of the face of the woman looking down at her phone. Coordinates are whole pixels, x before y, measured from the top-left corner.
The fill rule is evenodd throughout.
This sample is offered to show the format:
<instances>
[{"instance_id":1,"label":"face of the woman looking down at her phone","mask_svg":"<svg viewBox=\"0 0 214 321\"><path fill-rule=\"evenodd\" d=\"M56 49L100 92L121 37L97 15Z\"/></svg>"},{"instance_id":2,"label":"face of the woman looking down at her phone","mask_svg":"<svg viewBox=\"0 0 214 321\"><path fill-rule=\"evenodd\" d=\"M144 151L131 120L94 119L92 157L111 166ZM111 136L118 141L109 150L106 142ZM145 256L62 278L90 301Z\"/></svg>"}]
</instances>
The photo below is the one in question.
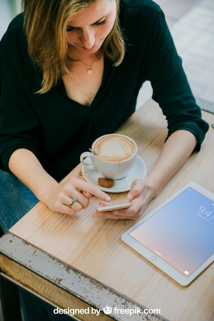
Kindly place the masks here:
<instances>
[{"instance_id":1,"label":"face of the woman looking down at her phone","mask_svg":"<svg viewBox=\"0 0 214 321\"><path fill-rule=\"evenodd\" d=\"M96 0L68 21L66 38L74 54L98 51L111 31L116 17L115 0Z\"/></svg>"}]
</instances>

